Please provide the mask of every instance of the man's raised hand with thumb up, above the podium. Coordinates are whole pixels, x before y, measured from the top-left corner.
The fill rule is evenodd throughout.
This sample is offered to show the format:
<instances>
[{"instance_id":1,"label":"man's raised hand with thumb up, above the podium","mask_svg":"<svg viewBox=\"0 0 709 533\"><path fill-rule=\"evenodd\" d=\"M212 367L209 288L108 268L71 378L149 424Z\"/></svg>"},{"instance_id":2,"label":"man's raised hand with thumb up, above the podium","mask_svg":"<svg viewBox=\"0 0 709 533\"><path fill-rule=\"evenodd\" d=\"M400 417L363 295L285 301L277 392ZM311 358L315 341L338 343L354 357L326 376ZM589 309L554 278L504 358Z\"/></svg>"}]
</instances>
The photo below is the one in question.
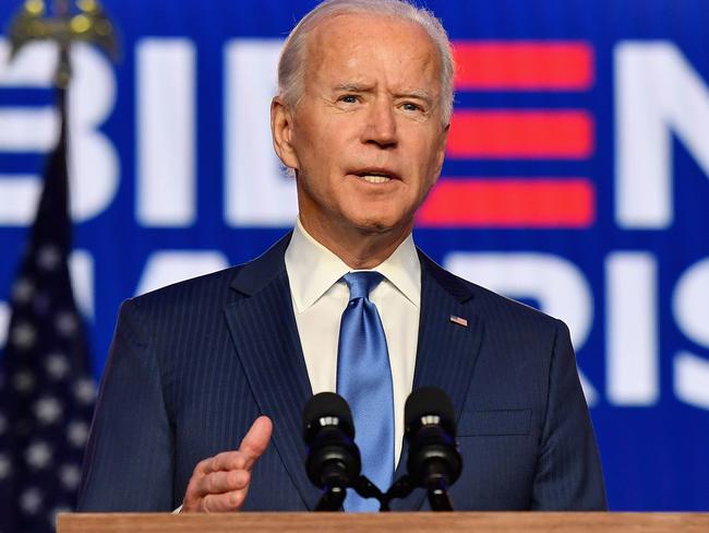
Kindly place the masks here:
<instances>
[{"instance_id":1,"label":"man's raised hand with thumb up, above the podium","mask_svg":"<svg viewBox=\"0 0 709 533\"><path fill-rule=\"evenodd\" d=\"M272 433L271 418L260 416L238 451L225 451L201 461L188 484L181 512L239 510L249 491L253 465L266 451Z\"/></svg>"}]
</instances>

